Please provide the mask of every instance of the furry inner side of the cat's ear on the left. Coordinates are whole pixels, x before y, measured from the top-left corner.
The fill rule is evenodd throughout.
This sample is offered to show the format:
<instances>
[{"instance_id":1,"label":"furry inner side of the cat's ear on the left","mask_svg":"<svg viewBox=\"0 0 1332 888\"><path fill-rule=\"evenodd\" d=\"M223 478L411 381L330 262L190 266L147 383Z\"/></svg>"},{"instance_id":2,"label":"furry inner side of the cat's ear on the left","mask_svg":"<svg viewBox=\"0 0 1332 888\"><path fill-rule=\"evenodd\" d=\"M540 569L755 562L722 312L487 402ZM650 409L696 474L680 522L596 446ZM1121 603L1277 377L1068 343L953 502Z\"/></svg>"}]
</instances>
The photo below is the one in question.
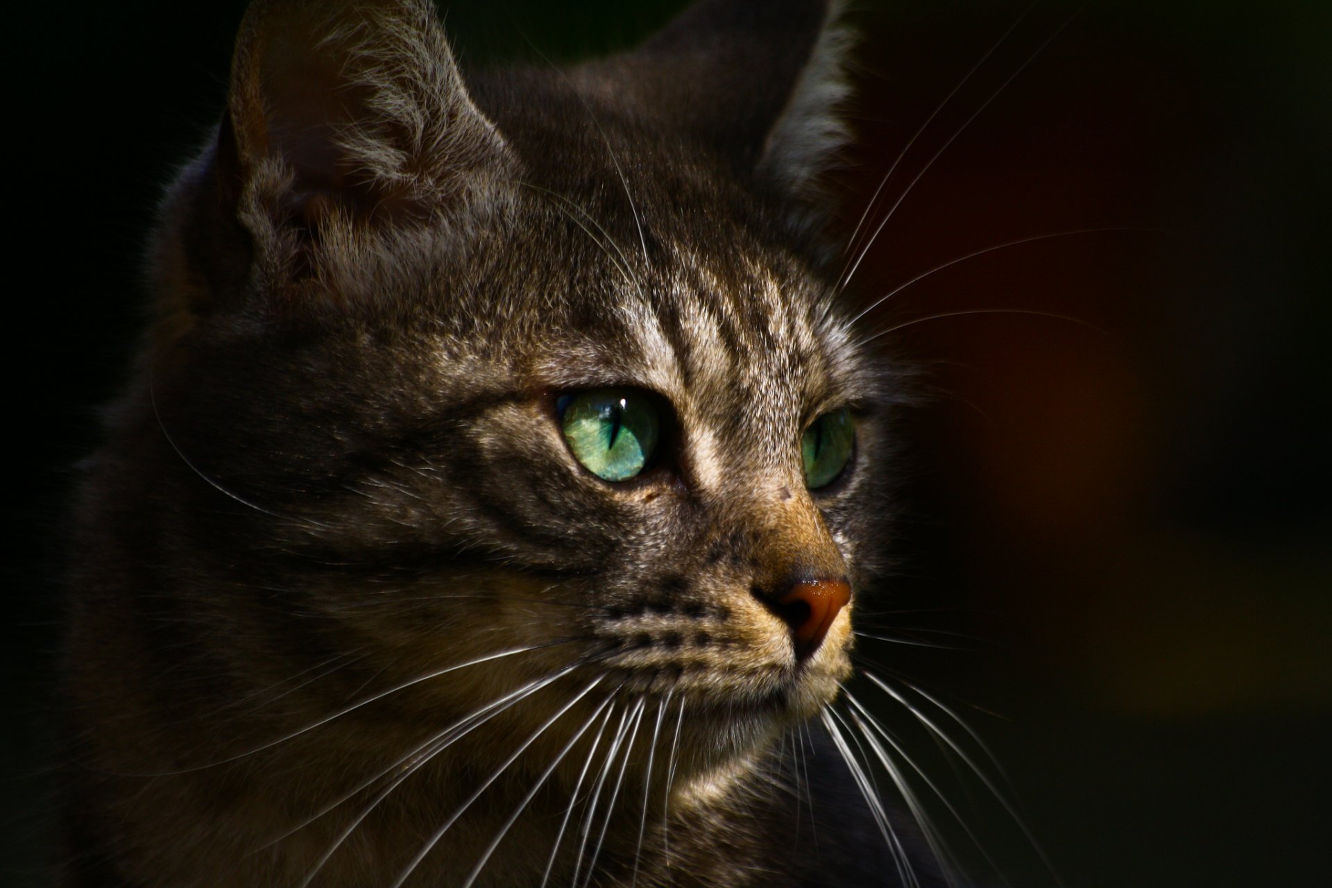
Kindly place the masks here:
<instances>
[{"instance_id":1,"label":"furry inner side of the cat's ear on the left","mask_svg":"<svg viewBox=\"0 0 1332 888\"><path fill-rule=\"evenodd\" d=\"M506 157L428 0L254 3L228 116L242 180L280 166L298 212L448 205Z\"/></svg>"}]
</instances>

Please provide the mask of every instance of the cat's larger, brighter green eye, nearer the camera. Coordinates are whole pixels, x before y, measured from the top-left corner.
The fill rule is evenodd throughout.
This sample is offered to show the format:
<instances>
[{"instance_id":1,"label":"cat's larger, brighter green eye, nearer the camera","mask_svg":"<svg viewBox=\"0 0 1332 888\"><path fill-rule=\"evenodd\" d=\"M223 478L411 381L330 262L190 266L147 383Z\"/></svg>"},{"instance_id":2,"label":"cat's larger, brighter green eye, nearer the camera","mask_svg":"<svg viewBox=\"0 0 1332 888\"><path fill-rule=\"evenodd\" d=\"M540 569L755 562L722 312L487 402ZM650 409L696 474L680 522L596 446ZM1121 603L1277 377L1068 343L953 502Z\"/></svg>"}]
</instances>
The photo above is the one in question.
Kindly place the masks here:
<instances>
[{"instance_id":1,"label":"cat's larger, brighter green eye, nearer the camera","mask_svg":"<svg viewBox=\"0 0 1332 888\"><path fill-rule=\"evenodd\" d=\"M559 422L574 458L598 478L629 481L657 447L657 406L641 391L597 389L559 398Z\"/></svg>"}]
</instances>

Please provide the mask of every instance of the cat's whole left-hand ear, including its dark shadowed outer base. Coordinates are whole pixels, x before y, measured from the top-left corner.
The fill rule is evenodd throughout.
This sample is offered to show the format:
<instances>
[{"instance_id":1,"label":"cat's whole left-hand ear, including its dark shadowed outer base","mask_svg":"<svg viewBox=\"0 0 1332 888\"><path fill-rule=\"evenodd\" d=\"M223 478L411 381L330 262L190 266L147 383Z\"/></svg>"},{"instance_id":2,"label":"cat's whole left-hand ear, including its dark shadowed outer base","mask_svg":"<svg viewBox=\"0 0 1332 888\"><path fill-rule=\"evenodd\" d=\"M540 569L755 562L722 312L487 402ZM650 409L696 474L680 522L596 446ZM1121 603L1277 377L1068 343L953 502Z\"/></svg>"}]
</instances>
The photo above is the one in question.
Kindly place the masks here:
<instances>
[{"instance_id":1,"label":"cat's whole left-hand ear, including its dark shadowed outer base","mask_svg":"<svg viewBox=\"0 0 1332 888\"><path fill-rule=\"evenodd\" d=\"M172 308L336 289L329 268L365 264L389 228L460 217L513 164L429 0L256 0L216 146L165 208L159 268L193 301Z\"/></svg>"}]
</instances>

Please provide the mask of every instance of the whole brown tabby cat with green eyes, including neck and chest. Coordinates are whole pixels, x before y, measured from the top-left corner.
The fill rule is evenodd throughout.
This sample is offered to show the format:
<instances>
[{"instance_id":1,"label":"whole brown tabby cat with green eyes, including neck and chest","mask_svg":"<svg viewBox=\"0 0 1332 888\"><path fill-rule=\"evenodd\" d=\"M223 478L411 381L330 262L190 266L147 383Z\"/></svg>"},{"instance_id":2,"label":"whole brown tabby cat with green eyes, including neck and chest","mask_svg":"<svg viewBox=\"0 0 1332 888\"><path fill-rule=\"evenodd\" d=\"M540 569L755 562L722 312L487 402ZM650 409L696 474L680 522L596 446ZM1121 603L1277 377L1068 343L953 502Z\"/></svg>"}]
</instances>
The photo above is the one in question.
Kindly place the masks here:
<instances>
[{"instance_id":1,"label":"whole brown tabby cat with green eyes, including neck and chest","mask_svg":"<svg viewBox=\"0 0 1332 888\"><path fill-rule=\"evenodd\" d=\"M839 23L464 76L426 0L252 4L84 466L59 884L944 884L831 708L900 398Z\"/></svg>"}]
</instances>

